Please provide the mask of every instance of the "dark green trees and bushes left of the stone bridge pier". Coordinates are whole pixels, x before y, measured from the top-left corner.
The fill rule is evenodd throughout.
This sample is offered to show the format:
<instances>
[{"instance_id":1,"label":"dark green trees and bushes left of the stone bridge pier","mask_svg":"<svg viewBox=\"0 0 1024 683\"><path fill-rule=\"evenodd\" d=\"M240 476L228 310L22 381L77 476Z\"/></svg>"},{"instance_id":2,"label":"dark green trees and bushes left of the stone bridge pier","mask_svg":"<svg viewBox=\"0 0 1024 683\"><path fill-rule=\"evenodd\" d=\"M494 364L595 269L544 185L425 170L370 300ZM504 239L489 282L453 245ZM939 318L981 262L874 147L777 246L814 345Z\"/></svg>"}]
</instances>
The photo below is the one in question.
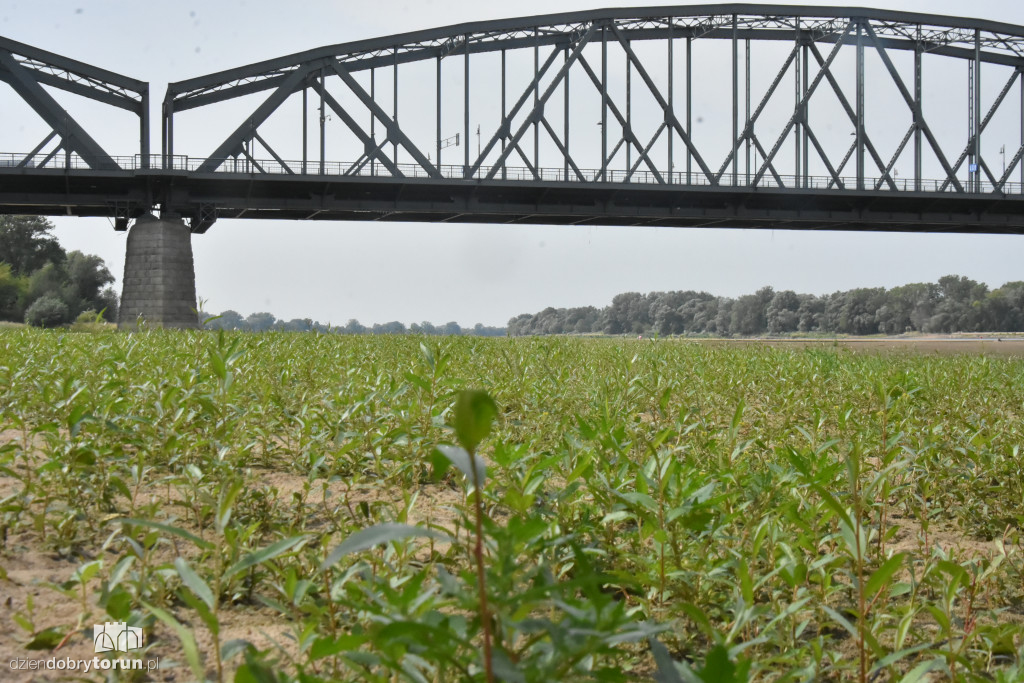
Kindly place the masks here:
<instances>
[{"instance_id":1,"label":"dark green trees and bushes left of the stone bridge pier","mask_svg":"<svg viewBox=\"0 0 1024 683\"><path fill-rule=\"evenodd\" d=\"M103 259L66 252L40 216L0 216L0 321L56 327L80 316L117 321Z\"/></svg>"}]
</instances>

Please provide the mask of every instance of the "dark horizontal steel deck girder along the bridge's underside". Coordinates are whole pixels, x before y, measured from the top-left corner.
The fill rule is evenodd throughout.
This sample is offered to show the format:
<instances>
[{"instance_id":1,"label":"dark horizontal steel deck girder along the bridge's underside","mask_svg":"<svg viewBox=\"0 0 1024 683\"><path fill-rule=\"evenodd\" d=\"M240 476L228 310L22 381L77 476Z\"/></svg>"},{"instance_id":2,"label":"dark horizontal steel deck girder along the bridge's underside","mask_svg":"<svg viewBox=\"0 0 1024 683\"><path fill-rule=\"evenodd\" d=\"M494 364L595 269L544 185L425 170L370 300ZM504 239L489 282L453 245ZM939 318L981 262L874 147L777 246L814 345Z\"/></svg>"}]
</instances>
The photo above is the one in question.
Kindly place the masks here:
<instances>
[{"instance_id":1,"label":"dark horizontal steel deck girder along the bridge's underside","mask_svg":"<svg viewBox=\"0 0 1024 683\"><path fill-rule=\"evenodd\" d=\"M1024 197L660 184L0 169L0 212L1024 234Z\"/></svg>"}]
</instances>

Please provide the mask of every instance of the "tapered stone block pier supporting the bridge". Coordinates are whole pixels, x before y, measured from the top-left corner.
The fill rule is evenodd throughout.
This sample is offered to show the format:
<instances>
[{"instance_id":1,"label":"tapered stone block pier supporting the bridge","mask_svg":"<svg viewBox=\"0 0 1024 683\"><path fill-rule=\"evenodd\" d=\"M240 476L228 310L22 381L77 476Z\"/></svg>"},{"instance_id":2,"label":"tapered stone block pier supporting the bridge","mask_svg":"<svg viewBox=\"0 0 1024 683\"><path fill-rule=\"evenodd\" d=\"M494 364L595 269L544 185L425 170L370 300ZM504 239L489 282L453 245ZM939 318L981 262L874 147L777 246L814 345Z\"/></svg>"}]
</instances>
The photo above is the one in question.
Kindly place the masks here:
<instances>
[{"instance_id":1,"label":"tapered stone block pier supporting the bridge","mask_svg":"<svg viewBox=\"0 0 1024 683\"><path fill-rule=\"evenodd\" d=\"M164 328L197 328L191 232L180 219L141 216L128 232L118 327L138 319Z\"/></svg>"}]
</instances>

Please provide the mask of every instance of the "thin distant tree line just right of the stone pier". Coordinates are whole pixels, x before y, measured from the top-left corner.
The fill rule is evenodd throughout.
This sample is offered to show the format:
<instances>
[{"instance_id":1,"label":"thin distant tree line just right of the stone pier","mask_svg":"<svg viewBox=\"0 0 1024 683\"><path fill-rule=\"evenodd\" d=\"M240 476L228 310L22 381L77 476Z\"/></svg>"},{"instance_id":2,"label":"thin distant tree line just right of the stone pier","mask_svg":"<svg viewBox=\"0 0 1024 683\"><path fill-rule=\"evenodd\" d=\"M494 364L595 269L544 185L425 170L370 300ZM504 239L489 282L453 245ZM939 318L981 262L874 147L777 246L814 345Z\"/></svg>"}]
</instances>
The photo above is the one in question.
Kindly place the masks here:
<instances>
[{"instance_id":1,"label":"thin distant tree line just right of the stone pier","mask_svg":"<svg viewBox=\"0 0 1024 683\"><path fill-rule=\"evenodd\" d=\"M477 337L504 337L505 328L487 327L477 323L472 328L463 328L458 323L451 322L435 326L424 321L413 323L409 327L397 321L377 323L367 327L355 318L342 326L332 326L308 317L295 317L290 321L278 319L273 313L259 312L243 316L236 310L225 310L219 315L203 315L203 327L210 330L241 330L244 332L321 332L346 335L475 335Z\"/></svg>"}]
</instances>

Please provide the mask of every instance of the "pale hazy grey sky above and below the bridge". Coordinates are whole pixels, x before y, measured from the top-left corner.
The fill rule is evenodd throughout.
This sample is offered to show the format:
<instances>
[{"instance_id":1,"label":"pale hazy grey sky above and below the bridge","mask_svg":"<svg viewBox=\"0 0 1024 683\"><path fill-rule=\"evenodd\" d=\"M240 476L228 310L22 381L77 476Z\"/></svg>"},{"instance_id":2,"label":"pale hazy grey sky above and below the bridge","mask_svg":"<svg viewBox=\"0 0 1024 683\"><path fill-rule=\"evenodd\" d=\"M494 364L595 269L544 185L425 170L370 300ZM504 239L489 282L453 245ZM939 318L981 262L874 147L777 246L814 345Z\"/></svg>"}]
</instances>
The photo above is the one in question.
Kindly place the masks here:
<instances>
[{"instance_id":1,"label":"pale hazy grey sky above and below the bridge","mask_svg":"<svg viewBox=\"0 0 1024 683\"><path fill-rule=\"evenodd\" d=\"M449 24L648 4L4 0L0 35L148 81L153 145L159 150L159 102L169 81L322 45ZM874 6L1024 24L1024 4L1016 0L887 0ZM957 78L963 76L959 63ZM728 69L721 69L721 78L728 78ZM992 88L997 92L1001 85L991 81L983 79L986 93ZM985 95L984 108L992 97L994 92ZM953 106L963 104L966 119L966 89L963 96L953 95ZM9 113L18 106L16 96L0 84L0 111L5 112L0 152L28 152L45 134L30 123L11 125ZM906 110L895 99L892 106ZM227 124L233 128L237 122ZM136 129L102 123L99 128L105 137L97 138L113 154L137 151ZM886 159L905 124L894 124L893 130L896 141L882 152ZM223 138L204 133L193 135L203 148L182 150L179 141L175 152L202 156ZM998 140L991 138L1006 137L1010 158L1020 134L999 122L993 122L992 133L985 154L997 168L999 158L993 153ZM101 256L120 289L125 234L115 232L105 219L54 222L65 248ZM283 318L335 324L355 317L364 324L397 319L504 325L515 314L549 305L603 306L627 291L693 289L736 296L771 285L820 294L934 282L948 273L992 287L1024 280L1024 237L221 219L208 233L194 237L193 245L198 291L207 310L268 310Z\"/></svg>"}]
</instances>

